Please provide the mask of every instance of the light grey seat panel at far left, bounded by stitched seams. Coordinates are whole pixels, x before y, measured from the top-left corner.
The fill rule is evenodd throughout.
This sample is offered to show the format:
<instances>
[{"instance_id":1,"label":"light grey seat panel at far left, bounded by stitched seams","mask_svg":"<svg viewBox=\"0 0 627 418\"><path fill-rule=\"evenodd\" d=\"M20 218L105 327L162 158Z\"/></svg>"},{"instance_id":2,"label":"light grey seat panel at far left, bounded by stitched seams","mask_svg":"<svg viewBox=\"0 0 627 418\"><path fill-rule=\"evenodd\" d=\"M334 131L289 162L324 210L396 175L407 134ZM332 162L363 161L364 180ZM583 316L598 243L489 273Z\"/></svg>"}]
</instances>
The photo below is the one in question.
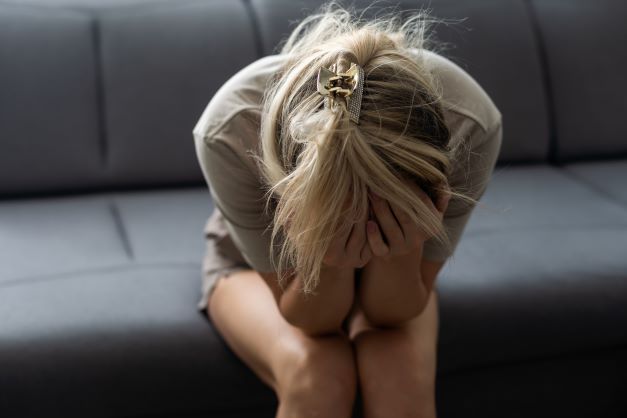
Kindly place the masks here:
<instances>
[{"instance_id":1,"label":"light grey seat panel at far left, bounded by stitched seams","mask_svg":"<svg viewBox=\"0 0 627 418\"><path fill-rule=\"evenodd\" d=\"M0 204L0 284L128 261L111 203L99 196Z\"/></svg>"}]
</instances>

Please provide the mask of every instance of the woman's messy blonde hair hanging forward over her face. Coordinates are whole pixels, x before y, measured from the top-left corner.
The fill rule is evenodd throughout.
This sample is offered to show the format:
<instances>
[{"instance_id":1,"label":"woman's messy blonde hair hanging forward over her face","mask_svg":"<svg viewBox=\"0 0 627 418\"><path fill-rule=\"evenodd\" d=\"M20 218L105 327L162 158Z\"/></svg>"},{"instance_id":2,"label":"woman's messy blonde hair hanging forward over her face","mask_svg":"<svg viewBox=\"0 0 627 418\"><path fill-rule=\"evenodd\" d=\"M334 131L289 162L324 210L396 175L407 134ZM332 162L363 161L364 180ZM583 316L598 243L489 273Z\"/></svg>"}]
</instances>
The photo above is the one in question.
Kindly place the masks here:
<instances>
[{"instance_id":1,"label":"woman's messy blonde hair hanging forward over her face","mask_svg":"<svg viewBox=\"0 0 627 418\"><path fill-rule=\"evenodd\" d=\"M280 247L278 264L270 252L282 288L286 265L298 266L302 291L315 293L335 234L368 211L368 189L450 249L442 222L403 183L412 179L435 199L455 150L439 103L441 88L421 65L431 20L422 10L404 23L399 15L365 20L332 0L282 42L285 62L264 91L257 158L267 185L265 210L274 210L271 247ZM365 72L358 125L348 112L325 108L316 91L321 66L337 62L344 65L338 71L346 71L350 61ZM451 195L475 202L455 190ZM285 239L277 245L280 232Z\"/></svg>"}]
</instances>

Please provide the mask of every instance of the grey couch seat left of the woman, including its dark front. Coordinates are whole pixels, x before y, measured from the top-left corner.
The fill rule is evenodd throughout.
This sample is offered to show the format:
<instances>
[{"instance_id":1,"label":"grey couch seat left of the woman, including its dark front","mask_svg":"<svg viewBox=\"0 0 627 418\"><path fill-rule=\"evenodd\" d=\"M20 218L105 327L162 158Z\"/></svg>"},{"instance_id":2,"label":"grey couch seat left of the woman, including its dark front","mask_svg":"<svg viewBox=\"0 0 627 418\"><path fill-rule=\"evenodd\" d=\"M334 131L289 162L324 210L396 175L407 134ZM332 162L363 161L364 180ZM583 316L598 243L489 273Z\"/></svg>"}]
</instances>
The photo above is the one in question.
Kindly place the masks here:
<instances>
[{"instance_id":1,"label":"grey couch seat left of the woman, including its dark front","mask_svg":"<svg viewBox=\"0 0 627 418\"><path fill-rule=\"evenodd\" d=\"M196 308L212 210L205 187L0 203L3 416L206 416L242 385L273 410Z\"/></svg>"}]
</instances>

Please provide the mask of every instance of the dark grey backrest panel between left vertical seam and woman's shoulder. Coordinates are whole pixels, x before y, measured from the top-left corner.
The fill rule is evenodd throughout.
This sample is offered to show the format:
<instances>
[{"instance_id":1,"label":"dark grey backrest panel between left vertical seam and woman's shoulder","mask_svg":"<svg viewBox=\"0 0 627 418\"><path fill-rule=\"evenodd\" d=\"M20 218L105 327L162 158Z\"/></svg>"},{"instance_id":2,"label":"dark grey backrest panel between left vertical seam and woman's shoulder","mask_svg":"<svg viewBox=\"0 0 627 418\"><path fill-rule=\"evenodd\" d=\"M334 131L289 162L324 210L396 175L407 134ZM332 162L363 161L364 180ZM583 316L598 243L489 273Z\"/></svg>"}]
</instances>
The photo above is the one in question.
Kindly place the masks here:
<instances>
[{"instance_id":1,"label":"dark grey backrest panel between left vertical seam and woman's shoulder","mask_svg":"<svg viewBox=\"0 0 627 418\"><path fill-rule=\"evenodd\" d=\"M243 4L120 8L103 14L100 28L108 179L200 182L191 128L226 78L256 57Z\"/></svg>"}]
</instances>

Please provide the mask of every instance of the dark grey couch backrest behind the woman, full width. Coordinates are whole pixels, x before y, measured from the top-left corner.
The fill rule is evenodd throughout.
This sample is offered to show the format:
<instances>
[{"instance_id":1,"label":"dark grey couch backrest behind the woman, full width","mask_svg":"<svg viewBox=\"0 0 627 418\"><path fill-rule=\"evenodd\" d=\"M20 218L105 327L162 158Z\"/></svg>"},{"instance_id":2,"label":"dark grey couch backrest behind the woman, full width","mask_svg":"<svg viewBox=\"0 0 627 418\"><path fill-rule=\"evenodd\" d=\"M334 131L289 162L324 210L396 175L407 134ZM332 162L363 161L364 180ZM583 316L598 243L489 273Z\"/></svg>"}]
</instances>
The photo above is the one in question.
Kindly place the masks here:
<instances>
[{"instance_id":1,"label":"dark grey couch backrest behind the woman, full width","mask_svg":"<svg viewBox=\"0 0 627 418\"><path fill-rule=\"evenodd\" d=\"M619 0L603 2L624 10ZM0 0L0 195L202 184L191 131L204 107L233 73L275 53L295 20L321 3ZM379 1L368 13L395 5L421 4ZM611 12L591 19L584 0L422 5L451 19L434 27L451 46L445 55L503 113L499 164L624 151L617 125L624 110L617 92L627 84L618 65L624 49L607 44L606 54L577 67L581 51L562 47L572 39L594 49L613 39L601 30L603 13L617 19ZM585 34L578 34L579 23ZM607 79L590 74L600 64ZM611 110L595 104L608 97ZM582 106L585 112L577 112ZM589 112L605 125L588 124ZM616 117L606 120L607 112ZM594 132L602 138L590 142Z\"/></svg>"}]
</instances>

